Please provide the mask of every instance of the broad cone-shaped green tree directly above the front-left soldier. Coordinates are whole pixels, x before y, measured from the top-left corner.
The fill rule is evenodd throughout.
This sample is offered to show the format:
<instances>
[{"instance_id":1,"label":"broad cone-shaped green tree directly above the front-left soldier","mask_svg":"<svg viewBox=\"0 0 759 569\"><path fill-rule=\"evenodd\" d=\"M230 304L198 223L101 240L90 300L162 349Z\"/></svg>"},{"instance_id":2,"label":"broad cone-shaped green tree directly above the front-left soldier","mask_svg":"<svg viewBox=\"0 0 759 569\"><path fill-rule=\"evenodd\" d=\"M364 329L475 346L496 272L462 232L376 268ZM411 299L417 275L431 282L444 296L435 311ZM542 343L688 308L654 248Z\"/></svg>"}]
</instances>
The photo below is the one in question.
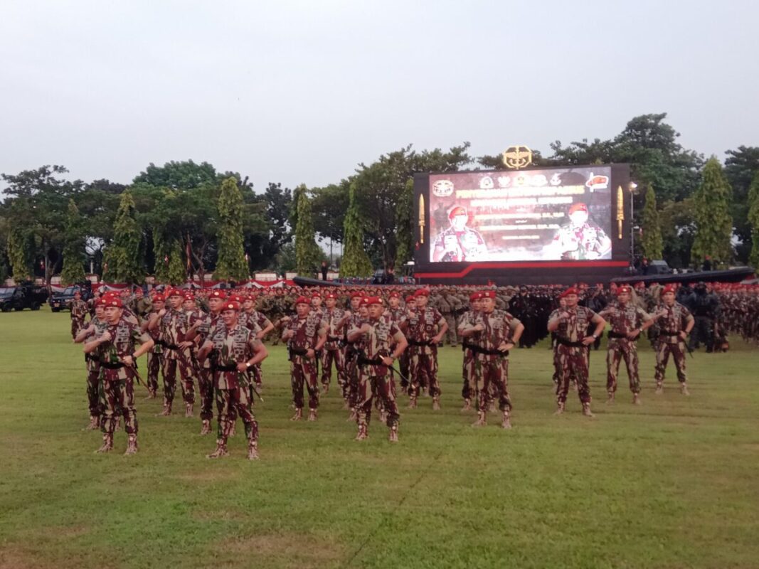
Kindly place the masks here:
<instances>
[{"instance_id":1,"label":"broad cone-shaped green tree directly above the front-left soldier","mask_svg":"<svg viewBox=\"0 0 759 569\"><path fill-rule=\"evenodd\" d=\"M145 269L142 262L142 228L135 218L134 199L130 190L121 193L118 203L114 238L106 248L103 278L116 282L141 284Z\"/></svg>"}]
</instances>

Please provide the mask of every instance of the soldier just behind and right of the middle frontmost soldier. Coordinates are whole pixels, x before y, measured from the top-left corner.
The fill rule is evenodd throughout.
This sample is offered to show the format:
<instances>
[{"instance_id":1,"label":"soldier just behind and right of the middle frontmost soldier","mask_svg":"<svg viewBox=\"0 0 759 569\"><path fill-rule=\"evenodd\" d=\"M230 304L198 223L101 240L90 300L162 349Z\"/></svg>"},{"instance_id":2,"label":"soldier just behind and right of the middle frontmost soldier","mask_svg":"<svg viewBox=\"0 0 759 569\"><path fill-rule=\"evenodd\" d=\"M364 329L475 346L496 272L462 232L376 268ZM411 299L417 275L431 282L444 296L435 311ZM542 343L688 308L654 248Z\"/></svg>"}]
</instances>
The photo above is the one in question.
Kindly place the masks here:
<instances>
[{"instance_id":1,"label":"soldier just behind and right of the middle frontmost soldier","mask_svg":"<svg viewBox=\"0 0 759 569\"><path fill-rule=\"evenodd\" d=\"M446 320L434 308L427 307L430 291L420 288L414 293L416 310L409 311L404 322L411 351L411 401L408 407L417 406L420 386L426 386L432 397L433 410L440 408L440 383L437 378L437 344L448 329Z\"/></svg>"}]
</instances>

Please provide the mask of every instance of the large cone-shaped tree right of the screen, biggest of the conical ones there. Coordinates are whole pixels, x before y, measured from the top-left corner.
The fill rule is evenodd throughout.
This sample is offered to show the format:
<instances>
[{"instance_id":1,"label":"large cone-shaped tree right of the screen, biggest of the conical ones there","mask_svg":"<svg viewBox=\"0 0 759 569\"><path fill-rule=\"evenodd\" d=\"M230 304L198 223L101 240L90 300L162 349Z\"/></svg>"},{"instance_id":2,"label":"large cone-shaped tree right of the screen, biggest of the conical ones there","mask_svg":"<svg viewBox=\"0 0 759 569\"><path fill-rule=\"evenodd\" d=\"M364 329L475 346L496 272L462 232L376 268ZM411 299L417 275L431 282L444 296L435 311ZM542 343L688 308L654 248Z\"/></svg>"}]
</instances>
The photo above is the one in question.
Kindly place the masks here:
<instances>
[{"instance_id":1,"label":"large cone-shaped tree right of the screen, biggest of the conical ones there","mask_svg":"<svg viewBox=\"0 0 759 569\"><path fill-rule=\"evenodd\" d=\"M694 193L696 235L691 260L698 266L707 256L717 264L732 259L732 190L720 162L712 156L704 166L701 186Z\"/></svg>"}]
</instances>

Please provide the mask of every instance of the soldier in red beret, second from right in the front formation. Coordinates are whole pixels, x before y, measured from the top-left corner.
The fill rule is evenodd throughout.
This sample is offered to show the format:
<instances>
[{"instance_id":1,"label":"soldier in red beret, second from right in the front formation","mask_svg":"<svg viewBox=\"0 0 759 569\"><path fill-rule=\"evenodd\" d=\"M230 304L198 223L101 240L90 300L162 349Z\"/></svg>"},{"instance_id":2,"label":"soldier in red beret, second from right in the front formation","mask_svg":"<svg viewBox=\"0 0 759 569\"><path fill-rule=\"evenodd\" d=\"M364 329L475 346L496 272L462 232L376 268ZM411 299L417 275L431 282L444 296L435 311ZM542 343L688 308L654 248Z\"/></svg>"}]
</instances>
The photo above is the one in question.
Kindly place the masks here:
<instances>
[{"instance_id":1,"label":"soldier in red beret, second from right in the front formation","mask_svg":"<svg viewBox=\"0 0 759 569\"><path fill-rule=\"evenodd\" d=\"M609 344L606 348L606 392L607 403L613 403L619 375L619 362L625 360L627 376L630 380L632 402L641 404L641 380L638 377L638 348L635 342L644 330L653 325L653 318L641 307L631 303L631 289L621 286L616 289L617 301L599 314L611 324Z\"/></svg>"}]
</instances>

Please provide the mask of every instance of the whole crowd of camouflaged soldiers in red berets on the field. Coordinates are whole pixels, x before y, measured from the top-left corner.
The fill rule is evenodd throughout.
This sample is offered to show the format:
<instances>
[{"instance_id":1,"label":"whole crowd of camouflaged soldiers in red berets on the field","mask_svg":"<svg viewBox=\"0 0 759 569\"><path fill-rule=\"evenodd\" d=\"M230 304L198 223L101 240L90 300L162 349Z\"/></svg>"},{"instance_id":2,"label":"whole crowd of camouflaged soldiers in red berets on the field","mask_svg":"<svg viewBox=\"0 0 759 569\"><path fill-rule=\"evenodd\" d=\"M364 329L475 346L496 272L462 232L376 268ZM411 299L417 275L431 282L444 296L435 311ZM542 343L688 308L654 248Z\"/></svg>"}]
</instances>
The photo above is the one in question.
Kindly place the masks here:
<instances>
[{"instance_id":1,"label":"whole crowd of camouflaged soldiers in red berets on the field","mask_svg":"<svg viewBox=\"0 0 759 569\"><path fill-rule=\"evenodd\" d=\"M208 456L228 454L228 439L239 417L247 456L256 459L253 403L263 388L261 363L269 355L265 341L287 344L291 420L304 419L306 405L307 420L318 419L320 396L329 391L334 368L345 410L357 424L356 439L367 439L376 411L389 440L397 442L396 390L408 396L410 409L424 395L431 398L433 410L440 408L437 353L446 340L461 344L462 410L476 410L474 425L486 425L488 413L497 407L500 426L511 428L509 351L533 347L547 335L553 348L556 413L565 412L574 388L582 413L593 417L588 363L607 326L607 401L616 397L624 360L632 402L641 404L636 342L644 335L656 353L657 393L662 392L671 355L680 390L688 395L686 351L701 344L707 352L726 351L729 333L757 339L757 291L703 283L693 289L642 284L265 291L158 287L150 294L136 288L96 291L87 303L75 297L71 335L83 343L87 429L102 431L99 452L112 450L121 418L128 435L126 454L137 451L134 382L146 386L149 398L162 391L162 417L173 413L179 382L186 417L194 417L200 399L201 435L212 432L216 407L216 449ZM145 379L137 369L143 354Z\"/></svg>"}]
</instances>

